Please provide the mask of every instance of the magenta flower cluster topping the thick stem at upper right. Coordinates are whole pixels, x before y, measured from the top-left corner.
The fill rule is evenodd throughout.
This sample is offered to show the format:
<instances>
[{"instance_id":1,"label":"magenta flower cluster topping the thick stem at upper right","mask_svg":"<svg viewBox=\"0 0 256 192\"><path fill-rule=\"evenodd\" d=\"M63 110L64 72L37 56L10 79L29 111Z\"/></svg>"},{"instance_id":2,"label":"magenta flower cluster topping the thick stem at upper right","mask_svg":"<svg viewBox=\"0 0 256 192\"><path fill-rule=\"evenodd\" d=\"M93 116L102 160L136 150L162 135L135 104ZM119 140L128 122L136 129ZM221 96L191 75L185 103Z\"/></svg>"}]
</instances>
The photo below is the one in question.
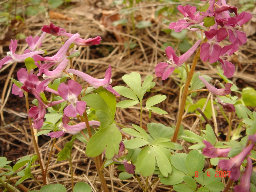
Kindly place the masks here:
<instances>
[{"instance_id":1,"label":"magenta flower cluster topping the thick stem at upper right","mask_svg":"<svg viewBox=\"0 0 256 192\"><path fill-rule=\"evenodd\" d=\"M241 26L248 22L252 15L250 13L242 12L237 13L237 8L227 5L225 0L209 1L209 8L205 11L198 11L195 6L186 5L178 6L180 13L184 15L184 19L180 19L177 22L173 22L169 25L170 29L174 29L179 33L183 29L195 30L193 26L197 25L197 28L204 29L205 40L201 45L200 57L206 62L209 59L210 63L220 61L224 75L227 78L231 78L235 72L235 66L228 61L228 58L239 49L239 46L247 42L246 34L242 31ZM234 14L234 16L230 16ZM204 26L206 18L213 18L215 24L206 29ZM201 27L198 27L200 25ZM230 45L221 47L219 42L223 41L229 36ZM198 47L199 41L184 55L177 57L175 51L171 47L166 48L166 55L168 57L167 63L159 63L155 68L157 77L162 77L162 80L168 78L168 76L174 71L175 68L182 66L187 59L194 53ZM182 58L182 59L181 59Z\"/></svg>"}]
</instances>

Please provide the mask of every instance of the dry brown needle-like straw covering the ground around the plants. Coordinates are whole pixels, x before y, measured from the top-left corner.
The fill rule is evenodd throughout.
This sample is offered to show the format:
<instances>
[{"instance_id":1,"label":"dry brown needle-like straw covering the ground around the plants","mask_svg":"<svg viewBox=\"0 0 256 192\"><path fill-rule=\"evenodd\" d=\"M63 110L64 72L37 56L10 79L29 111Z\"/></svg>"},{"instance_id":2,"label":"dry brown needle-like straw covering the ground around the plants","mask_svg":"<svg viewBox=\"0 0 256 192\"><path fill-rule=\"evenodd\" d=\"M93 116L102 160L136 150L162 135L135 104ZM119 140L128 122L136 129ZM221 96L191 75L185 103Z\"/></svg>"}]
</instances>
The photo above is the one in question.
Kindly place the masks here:
<instances>
[{"instance_id":1,"label":"dry brown needle-like straw covering the ground around the plants","mask_svg":"<svg viewBox=\"0 0 256 192\"><path fill-rule=\"evenodd\" d=\"M1 31L1 45L0 54L5 57L9 51L9 39L15 39L15 33L24 33L26 36L40 35L40 28L43 25L49 25L54 23L59 27L63 27L69 33L79 33L81 38L90 38L95 36L102 37L102 43L99 46L92 46L82 48L81 56L74 59L75 68L81 71L90 70L90 75L95 78L103 78L105 70L109 64L112 67L112 86L124 85L121 77L124 74L130 74L131 72L138 72L141 74L144 80L147 75L154 76L154 82L156 86L153 92L158 91L157 94L164 94L167 99L159 105L159 107L167 111L168 115L157 115L152 113L151 119L148 113L143 114L143 126L146 129L148 123L156 122L163 123L166 126L175 124L178 100L179 100L179 86L176 82L179 81L175 74L172 74L167 80L162 81L154 74L154 68L159 62L166 60L164 56L165 51L161 49L165 42L172 42L178 46L177 39L174 39L169 34L163 33L162 29L167 29L168 26L162 23L163 17L154 18L154 12L161 5L160 3L143 2L137 5L138 9L135 12L135 18L138 20L150 20L153 26L146 29L130 30L131 24L128 27L113 27L111 26L111 19L118 16L120 18L125 17L121 14L122 5L113 6L112 1L77 1L73 3L68 9L54 9L47 10L45 14L38 14L36 16L27 18L25 22L14 21L14 24L9 28L2 28ZM184 2L189 3L189 2ZM171 6L171 5L169 5ZM52 12L50 12L52 11ZM63 15L60 15L63 14ZM74 15L74 13L76 15ZM103 13L103 14L102 14ZM115 16L115 14L118 14ZM49 18L49 15L51 16ZM102 17L105 17L103 23ZM178 18L179 16L177 16ZM116 18L113 18L116 19ZM105 24L105 25L104 25ZM249 24L252 25L252 22ZM9 31L9 32L8 32ZM197 37L193 33L187 34L190 39L196 40ZM137 43L136 48L125 48L125 42L129 44ZM48 51L48 54L54 54L59 49L60 41L53 42L49 34L44 39L42 49ZM232 56L232 62L236 66L236 73L232 78L233 83L242 89L250 86L256 88L255 78L255 61L256 61L256 41L255 34L248 38L248 43L241 46L239 51ZM22 54L27 48L24 40L20 40L18 44L17 54ZM76 47L75 47L76 48ZM176 49L177 50L177 49ZM191 63L191 59L188 61ZM17 162L20 158L27 155L34 155L33 142L31 141L29 123L27 120L25 99L18 98L12 94L12 83L9 78L16 78L16 72L20 68L24 68L23 63L11 63L4 66L1 70L1 130L0 130L0 143L1 143L1 156L7 157L8 160ZM197 71L201 74L207 74L212 78L219 78L217 75L217 68L211 66L208 62L204 63L200 61L197 65ZM78 79L79 80L79 79ZM154 95L155 93L147 93L146 98ZM240 96L238 94L238 96ZM200 93L195 101L199 98L208 97L213 100L210 95ZM31 101L33 97L30 98ZM118 102L123 100L122 97L116 98ZM32 106L32 105L31 105ZM255 109L251 109L255 110ZM213 125L219 127L219 132L223 135L226 134L227 123L225 118L217 109L218 116L209 120ZM131 127L132 124L139 124L140 109L138 106L134 106L129 109L118 109L116 112L116 121L122 123L127 127ZM234 119L240 121L234 116ZM183 125L185 129L194 130L199 133L200 122L195 116L184 119ZM206 125L202 122L203 127ZM236 121L233 122L233 127L237 127ZM215 127L215 129L218 129ZM126 135L123 133L126 137ZM242 132L242 134L244 134ZM50 160L48 168L48 180L47 184L61 183L66 186L68 191L71 191L71 176L69 162L57 162L55 157L59 150L65 145L65 142L70 140L70 135L59 138L55 144L54 153ZM44 165L48 160L52 139L48 136L39 136L38 145L40 146L40 153L43 158ZM182 143L184 144L184 142ZM184 152L188 153L189 144L185 144ZM93 159L89 158L85 154L85 144L76 141L72 152L74 179L75 182L86 182L92 187L92 191L101 191L99 178ZM118 177L120 171L117 170L116 165L112 165L104 169L106 181L109 189L112 191L142 191L135 176L129 180L121 181ZM41 170L38 167L34 167L32 173L35 175L39 182L42 182ZM13 183L20 177L16 176L11 179ZM149 184L154 182L157 178L153 175L149 178ZM145 178L141 177L141 182L145 184ZM26 180L22 185L19 185L20 191L39 190L39 186L33 180ZM159 181L150 189L153 191L170 191L170 186L165 186ZM3 191L0 189L0 192Z\"/></svg>"}]
</instances>

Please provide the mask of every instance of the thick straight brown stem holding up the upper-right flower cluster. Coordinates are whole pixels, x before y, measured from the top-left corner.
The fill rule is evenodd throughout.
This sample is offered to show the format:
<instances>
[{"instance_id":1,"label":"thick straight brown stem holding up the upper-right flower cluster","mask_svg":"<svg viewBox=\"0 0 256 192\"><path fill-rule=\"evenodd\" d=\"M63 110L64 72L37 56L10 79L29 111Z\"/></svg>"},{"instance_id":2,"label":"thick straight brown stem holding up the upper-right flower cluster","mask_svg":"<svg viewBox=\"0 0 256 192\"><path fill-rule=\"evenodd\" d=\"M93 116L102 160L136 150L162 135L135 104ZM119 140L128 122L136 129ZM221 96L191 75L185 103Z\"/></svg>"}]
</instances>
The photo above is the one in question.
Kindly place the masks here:
<instances>
[{"instance_id":1,"label":"thick straight brown stem holding up the upper-right flower cluster","mask_svg":"<svg viewBox=\"0 0 256 192\"><path fill-rule=\"evenodd\" d=\"M201 50L201 47L199 48L199 50L196 53L196 56L195 56L194 61L192 63L192 66L191 66L191 69L190 69L190 72L189 72L189 75L187 77L187 81L185 83L185 87L184 87L184 90L183 90L182 99L180 101L181 105L180 105L180 108L179 108L178 118L177 118L177 123L176 123L176 129L175 129L175 132L174 132L174 135L173 135L173 140L172 140L172 142L174 142L174 143L176 143L177 138L178 138L179 129L180 129L180 125L181 125L181 122L182 122L182 117L183 117L183 114L184 114L184 109L185 109L186 101L187 101L187 97L188 97L188 89L189 89L191 80L192 80L193 75L194 75L194 71L195 71L195 68L196 68L197 61L200 58L200 50Z\"/></svg>"}]
</instances>

